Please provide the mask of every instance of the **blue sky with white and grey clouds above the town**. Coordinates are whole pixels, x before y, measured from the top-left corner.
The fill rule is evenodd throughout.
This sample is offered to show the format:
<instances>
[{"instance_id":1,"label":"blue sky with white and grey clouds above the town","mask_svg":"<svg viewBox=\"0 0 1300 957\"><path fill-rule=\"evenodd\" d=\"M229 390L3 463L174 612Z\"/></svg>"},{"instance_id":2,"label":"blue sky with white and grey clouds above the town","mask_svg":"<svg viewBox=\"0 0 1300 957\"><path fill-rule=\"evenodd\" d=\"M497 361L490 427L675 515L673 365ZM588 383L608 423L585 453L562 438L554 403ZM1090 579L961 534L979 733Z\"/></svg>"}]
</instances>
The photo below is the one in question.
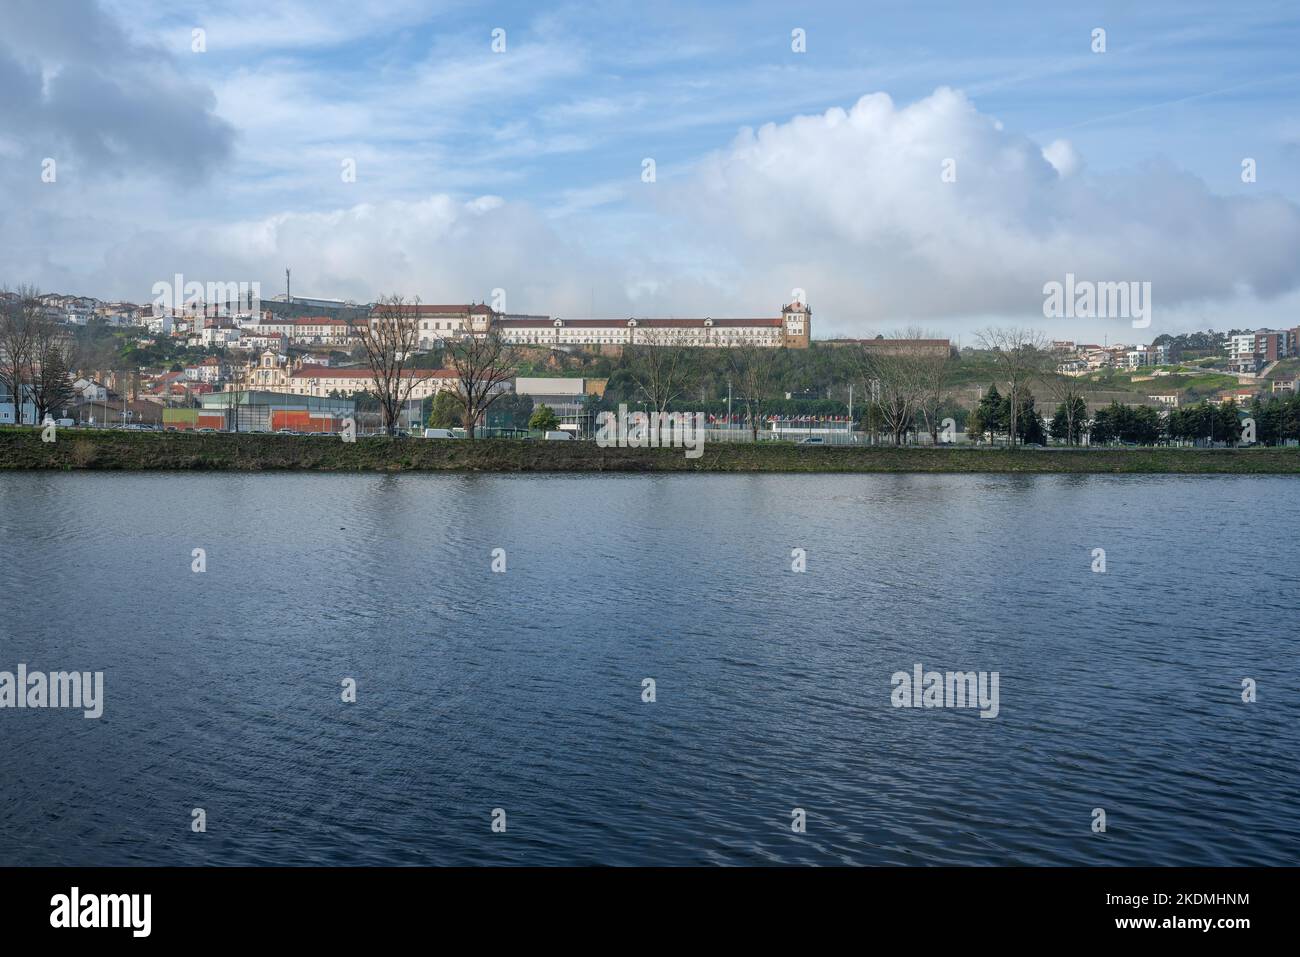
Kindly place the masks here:
<instances>
[{"instance_id":1,"label":"blue sky with white and grey clouds above the town","mask_svg":"<svg viewBox=\"0 0 1300 957\"><path fill-rule=\"evenodd\" d=\"M291 268L298 295L569 319L800 298L814 337L967 343L1300 325L1294 0L0 18L9 287L143 303L181 274L269 298ZM1149 282L1150 325L1045 317L1067 274Z\"/></svg>"}]
</instances>

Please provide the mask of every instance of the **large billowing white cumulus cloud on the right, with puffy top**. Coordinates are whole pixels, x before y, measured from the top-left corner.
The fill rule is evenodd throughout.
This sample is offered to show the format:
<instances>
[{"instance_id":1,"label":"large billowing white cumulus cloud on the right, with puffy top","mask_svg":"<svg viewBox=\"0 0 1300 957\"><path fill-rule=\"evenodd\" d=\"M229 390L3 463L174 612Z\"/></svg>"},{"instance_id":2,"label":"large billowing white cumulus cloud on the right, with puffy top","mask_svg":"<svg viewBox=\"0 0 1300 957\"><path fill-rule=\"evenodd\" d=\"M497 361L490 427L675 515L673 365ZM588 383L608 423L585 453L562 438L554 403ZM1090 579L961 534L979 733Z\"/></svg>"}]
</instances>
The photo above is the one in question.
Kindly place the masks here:
<instances>
[{"instance_id":1,"label":"large billowing white cumulus cloud on the right, with puffy top","mask_svg":"<svg viewBox=\"0 0 1300 957\"><path fill-rule=\"evenodd\" d=\"M1217 196L1167 164L1088 174L1069 144L1046 153L961 92L902 108L875 94L744 130L686 182L660 177L658 199L679 242L716 254L715 281L742 303L771 303L774 282L800 286L844 329L1041 322L1044 282L1067 272L1150 281L1157 326L1162 307L1296 289L1295 204Z\"/></svg>"}]
</instances>

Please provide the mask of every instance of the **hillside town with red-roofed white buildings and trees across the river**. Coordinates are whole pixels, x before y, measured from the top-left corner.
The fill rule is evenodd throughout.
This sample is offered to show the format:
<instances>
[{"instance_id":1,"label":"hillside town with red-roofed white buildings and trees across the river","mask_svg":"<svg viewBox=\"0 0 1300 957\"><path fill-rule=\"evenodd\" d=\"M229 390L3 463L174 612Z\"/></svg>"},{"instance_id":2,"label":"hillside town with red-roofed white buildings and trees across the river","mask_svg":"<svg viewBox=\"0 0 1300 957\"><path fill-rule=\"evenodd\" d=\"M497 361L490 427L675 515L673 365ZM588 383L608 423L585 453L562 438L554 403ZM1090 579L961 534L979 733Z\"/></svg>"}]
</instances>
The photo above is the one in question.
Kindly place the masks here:
<instances>
[{"instance_id":1,"label":"hillside town with red-roofed white buildings and trees across the river","mask_svg":"<svg viewBox=\"0 0 1300 957\"><path fill-rule=\"evenodd\" d=\"M480 434L526 436L537 430L534 410L545 408L538 421L554 425L547 432L582 437L593 416L624 402L660 411L690 407L714 428L753 438L924 442L928 436L937 442L935 424L952 419L961 438L950 441L1011 436L1014 442L1018 436L1046 445L1096 441L1088 426L1098 412L1117 416L1115 408L1149 410L1140 416L1166 423L1160 434L1167 439L1178 410L1244 410L1294 397L1300 380L1300 326L1160 335L1136 345L1040 338L1032 345L1037 373L1046 374L1039 385L1044 394L1035 408L1031 387L1018 393L1013 434L1011 416L1000 421L989 397L1008 403L1015 376L991 343L958 346L920 334L816 339L812 311L800 299L748 319L571 320L474 302L355 303L294 296L287 289L269 300L235 293L173 308L26 290L0 291L0 315L23 315L46 330L40 348L27 346L25 381L12 360L18 339L0 334L0 424L52 417L78 426L330 434L351 419L363 432L422 434L436 425L464 434L468 423ZM385 328L402 328L408 338L380 342L385 337L376 330ZM484 341L508 351L510 368L471 408L455 356L463 343ZM394 374L376 364L377 347L386 350ZM49 358L44 372L40 350ZM656 351L698 354L697 368L677 384L651 382L658 373L638 374L637 364ZM762 352L770 359L750 358ZM885 368L890 355L942 367L928 404L890 385L902 374ZM766 381L754 377L755 365L771 367ZM58 373L58 387L44 384L53 402L43 395L49 367ZM1070 421L1058 434L1053 419L1066 403ZM1019 434L1024 423L1037 425ZM1232 429L1222 432L1217 437L1209 426L1205 441L1223 441ZM1287 434L1283 428L1279 438Z\"/></svg>"}]
</instances>

